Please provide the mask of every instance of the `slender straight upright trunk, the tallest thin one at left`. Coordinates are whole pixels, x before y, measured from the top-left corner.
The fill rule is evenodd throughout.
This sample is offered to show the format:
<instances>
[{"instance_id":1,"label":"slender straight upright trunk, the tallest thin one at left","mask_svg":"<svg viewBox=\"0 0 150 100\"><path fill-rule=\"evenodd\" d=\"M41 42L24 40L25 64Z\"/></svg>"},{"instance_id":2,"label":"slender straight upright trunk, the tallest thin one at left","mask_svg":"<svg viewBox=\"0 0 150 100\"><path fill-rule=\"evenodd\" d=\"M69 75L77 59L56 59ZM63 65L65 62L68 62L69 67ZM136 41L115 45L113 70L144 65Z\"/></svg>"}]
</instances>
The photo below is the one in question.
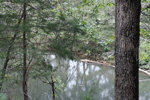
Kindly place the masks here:
<instances>
[{"instance_id":1,"label":"slender straight upright trunk, the tallest thin one at left","mask_svg":"<svg viewBox=\"0 0 150 100\"><path fill-rule=\"evenodd\" d=\"M26 64L26 3L24 3L24 11L23 11L23 24L24 24L24 31L23 31L23 81L22 81L22 89L24 100L28 100L28 89L27 89L27 64Z\"/></svg>"}]
</instances>

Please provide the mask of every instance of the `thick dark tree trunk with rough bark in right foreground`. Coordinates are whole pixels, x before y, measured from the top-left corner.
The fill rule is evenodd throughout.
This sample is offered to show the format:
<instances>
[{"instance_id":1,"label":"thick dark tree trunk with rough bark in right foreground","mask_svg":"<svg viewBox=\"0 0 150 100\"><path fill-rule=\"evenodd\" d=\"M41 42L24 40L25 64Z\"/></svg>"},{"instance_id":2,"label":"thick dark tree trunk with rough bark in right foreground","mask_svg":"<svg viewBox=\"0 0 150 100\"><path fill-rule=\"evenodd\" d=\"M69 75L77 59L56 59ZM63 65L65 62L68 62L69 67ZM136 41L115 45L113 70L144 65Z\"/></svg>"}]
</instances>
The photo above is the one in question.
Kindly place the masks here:
<instances>
[{"instance_id":1,"label":"thick dark tree trunk with rough bark in right foreground","mask_svg":"<svg viewBox=\"0 0 150 100\"><path fill-rule=\"evenodd\" d=\"M115 100L138 100L141 0L116 0L115 11Z\"/></svg>"}]
</instances>

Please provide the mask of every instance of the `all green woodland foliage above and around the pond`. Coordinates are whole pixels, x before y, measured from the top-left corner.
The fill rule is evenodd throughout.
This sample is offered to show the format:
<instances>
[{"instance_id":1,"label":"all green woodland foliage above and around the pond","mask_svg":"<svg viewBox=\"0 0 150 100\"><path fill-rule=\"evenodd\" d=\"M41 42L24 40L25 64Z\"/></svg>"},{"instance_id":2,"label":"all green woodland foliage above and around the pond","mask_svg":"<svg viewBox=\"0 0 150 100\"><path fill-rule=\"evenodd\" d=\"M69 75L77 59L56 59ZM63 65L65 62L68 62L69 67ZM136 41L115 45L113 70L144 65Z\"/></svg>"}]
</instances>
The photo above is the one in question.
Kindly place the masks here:
<instances>
[{"instance_id":1,"label":"all green woodland foliage above and around the pond","mask_svg":"<svg viewBox=\"0 0 150 100\"><path fill-rule=\"evenodd\" d=\"M43 55L47 52L55 53L63 58L73 59L74 52L83 56L100 58L104 52L114 49L115 21L113 2L108 0L26 0L27 19L23 24L22 0L1 0L0 6L0 60L5 62L10 46L10 56L6 78L12 73L17 73L19 79L22 75L22 33L27 36L27 68L29 78L56 82L56 90L61 90L64 84L59 76L55 75L57 67L46 61ZM142 3L148 3L142 0ZM148 5L149 6L149 5ZM148 8L143 11L150 14ZM140 64L150 65L149 30L144 26L149 25L149 18L142 17ZM17 35L12 42L14 35ZM113 60L112 55L105 55L104 59ZM2 66L3 67L3 66ZM2 68L1 67L1 68ZM59 66L58 66L59 67ZM20 76L19 76L20 75ZM18 80L18 79L16 79ZM6 81L6 80L5 80ZM83 95L86 100L92 100L91 88L88 95ZM2 99L3 100L3 99Z\"/></svg>"}]
</instances>

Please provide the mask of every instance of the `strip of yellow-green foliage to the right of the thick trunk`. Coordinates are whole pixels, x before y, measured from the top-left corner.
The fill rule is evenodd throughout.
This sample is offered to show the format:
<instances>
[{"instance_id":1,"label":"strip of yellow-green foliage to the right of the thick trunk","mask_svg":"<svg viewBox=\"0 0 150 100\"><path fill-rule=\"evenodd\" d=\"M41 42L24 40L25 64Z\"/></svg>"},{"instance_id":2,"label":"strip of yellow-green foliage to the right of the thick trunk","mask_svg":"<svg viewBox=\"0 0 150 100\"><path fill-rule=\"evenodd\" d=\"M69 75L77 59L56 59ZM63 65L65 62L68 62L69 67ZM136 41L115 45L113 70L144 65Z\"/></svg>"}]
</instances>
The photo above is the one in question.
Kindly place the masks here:
<instances>
[{"instance_id":1,"label":"strip of yellow-green foliage to the right of the thick trunk","mask_svg":"<svg viewBox=\"0 0 150 100\"><path fill-rule=\"evenodd\" d=\"M140 54L139 54L139 64L143 68L149 68L150 65L150 30L149 30L149 1L142 0L142 13L140 22Z\"/></svg>"}]
</instances>

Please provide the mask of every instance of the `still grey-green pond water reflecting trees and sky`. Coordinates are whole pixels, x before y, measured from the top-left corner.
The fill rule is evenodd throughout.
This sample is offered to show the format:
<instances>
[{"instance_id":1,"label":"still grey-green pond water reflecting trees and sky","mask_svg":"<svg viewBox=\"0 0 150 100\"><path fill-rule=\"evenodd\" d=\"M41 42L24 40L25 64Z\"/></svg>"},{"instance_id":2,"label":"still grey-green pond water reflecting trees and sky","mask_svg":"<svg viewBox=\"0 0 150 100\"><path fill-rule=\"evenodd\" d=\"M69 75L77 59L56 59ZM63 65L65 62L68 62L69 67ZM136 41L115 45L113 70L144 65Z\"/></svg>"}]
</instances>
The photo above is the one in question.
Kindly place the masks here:
<instances>
[{"instance_id":1,"label":"still grey-green pond water reflecting trees and sky","mask_svg":"<svg viewBox=\"0 0 150 100\"><path fill-rule=\"evenodd\" d=\"M114 100L114 68L62 59L56 55L44 55L45 61L58 68L55 75L65 84L57 91L56 100ZM150 100L150 77L140 73L140 100ZM52 100L50 84L42 79L29 78L28 92L30 100ZM8 100L22 100L21 83L3 85ZM89 99L91 98L91 99Z\"/></svg>"}]
</instances>

